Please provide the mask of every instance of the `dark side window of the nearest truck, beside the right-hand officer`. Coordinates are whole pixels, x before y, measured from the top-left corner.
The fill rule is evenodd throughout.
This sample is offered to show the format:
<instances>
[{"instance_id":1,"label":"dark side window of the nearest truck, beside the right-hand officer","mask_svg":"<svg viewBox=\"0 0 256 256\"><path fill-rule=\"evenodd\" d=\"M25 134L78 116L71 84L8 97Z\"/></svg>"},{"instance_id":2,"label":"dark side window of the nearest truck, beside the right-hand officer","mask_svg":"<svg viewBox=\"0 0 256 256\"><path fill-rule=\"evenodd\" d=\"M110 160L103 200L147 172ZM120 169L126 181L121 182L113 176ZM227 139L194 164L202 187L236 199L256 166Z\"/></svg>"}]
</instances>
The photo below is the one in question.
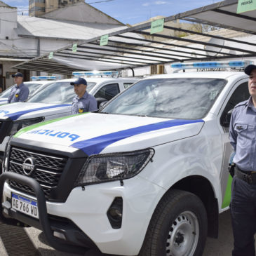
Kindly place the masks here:
<instances>
[{"instance_id":1,"label":"dark side window of the nearest truck, beside the right-hand officer","mask_svg":"<svg viewBox=\"0 0 256 256\"><path fill-rule=\"evenodd\" d=\"M250 93L248 90L248 82L241 83L238 88L234 91L234 93L231 95L229 102L227 102L226 107L224 108L224 111L222 113L222 116L220 118L220 123L224 127L225 132L229 131L229 123L230 123L230 115L228 115L228 112L231 109L234 109L234 107L239 103L243 102L245 100L248 100L250 97Z\"/></svg>"}]
</instances>

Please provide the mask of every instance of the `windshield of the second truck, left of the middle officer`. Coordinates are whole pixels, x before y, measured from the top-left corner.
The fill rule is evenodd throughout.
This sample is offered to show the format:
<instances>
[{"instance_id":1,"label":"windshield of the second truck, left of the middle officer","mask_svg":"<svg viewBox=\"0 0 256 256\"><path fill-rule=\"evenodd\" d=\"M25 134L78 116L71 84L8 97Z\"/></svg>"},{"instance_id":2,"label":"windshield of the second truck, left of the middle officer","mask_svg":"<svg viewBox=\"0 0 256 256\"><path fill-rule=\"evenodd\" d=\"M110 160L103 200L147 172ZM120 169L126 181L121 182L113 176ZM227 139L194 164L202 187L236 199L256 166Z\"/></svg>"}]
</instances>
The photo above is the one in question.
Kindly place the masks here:
<instances>
[{"instance_id":1,"label":"windshield of the second truck, left of the middle officer","mask_svg":"<svg viewBox=\"0 0 256 256\"><path fill-rule=\"evenodd\" d=\"M90 83L88 83L88 87ZM39 102L49 104L72 104L72 100L76 94L74 93L74 86L70 85L70 81L56 81L51 83L46 88L43 88L32 96L27 102Z\"/></svg>"}]
</instances>

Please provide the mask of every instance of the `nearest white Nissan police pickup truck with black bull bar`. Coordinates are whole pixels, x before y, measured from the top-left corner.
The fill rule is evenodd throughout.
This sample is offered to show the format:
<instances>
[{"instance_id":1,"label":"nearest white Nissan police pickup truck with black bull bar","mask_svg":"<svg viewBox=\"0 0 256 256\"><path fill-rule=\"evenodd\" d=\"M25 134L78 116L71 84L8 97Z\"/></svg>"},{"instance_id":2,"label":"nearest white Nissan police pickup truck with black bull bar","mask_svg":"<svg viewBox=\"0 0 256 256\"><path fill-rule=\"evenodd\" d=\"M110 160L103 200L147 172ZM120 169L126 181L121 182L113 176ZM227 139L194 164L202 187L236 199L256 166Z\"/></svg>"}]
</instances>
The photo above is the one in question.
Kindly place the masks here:
<instances>
[{"instance_id":1,"label":"nearest white Nissan police pickup truck with black bull bar","mask_svg":"<svg viewBox=\"0 0 256 256\"><path fill-rule=\"evenodd\" d=\"M229 208L230 111L248 97L243 72L164 74L97 112L23 128L0 176L2 222L66 252L202 255Z\"/></svg>"}]
</instances>

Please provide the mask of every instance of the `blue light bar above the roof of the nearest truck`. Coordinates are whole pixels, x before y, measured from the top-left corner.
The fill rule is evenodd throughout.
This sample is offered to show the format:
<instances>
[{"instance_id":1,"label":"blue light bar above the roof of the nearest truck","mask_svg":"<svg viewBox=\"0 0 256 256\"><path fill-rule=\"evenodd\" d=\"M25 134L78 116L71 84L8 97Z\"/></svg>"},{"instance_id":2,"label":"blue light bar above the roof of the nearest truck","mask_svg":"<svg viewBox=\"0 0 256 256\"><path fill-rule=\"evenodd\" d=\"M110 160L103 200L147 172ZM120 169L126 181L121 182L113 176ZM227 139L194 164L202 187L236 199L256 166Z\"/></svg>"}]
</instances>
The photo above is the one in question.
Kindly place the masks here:
<instances>
[{"instance_id":1,"label":"blue light bar above the roof of the nearest truck","mask_svg":"<svg viewBox=\"0 0 256 256\"><path fill-rule=\"evenodd\" d=\"M246 67L253 64L251 60L232 60L232 61L208 61L191 63L174 63L170 65L173 69L213 69L223 67Z\"/></svg>"}]
</instances>

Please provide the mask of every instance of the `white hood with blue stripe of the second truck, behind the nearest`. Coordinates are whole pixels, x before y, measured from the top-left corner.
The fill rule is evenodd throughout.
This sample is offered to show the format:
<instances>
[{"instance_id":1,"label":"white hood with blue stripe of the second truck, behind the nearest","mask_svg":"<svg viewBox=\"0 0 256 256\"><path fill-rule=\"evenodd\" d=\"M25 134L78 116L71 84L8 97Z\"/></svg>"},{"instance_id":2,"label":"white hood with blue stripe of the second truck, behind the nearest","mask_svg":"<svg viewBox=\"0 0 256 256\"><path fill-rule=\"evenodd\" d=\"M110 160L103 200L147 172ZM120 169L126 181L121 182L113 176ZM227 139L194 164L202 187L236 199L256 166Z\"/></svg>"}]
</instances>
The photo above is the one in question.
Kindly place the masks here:
<instances>
[{"instance_id":1,"label":"white hood with blue stripe of the second truck, behind the nearest","mask_svg":"<svg viewBox=\"0 0 256 256\"><path fill-rule=\"evenodd\" d=\"M1 102L0 102L1 103ZM0 120L20 120L71 111L70 104L15 102L0 106Z\"/></svg>"}]
</instances>

